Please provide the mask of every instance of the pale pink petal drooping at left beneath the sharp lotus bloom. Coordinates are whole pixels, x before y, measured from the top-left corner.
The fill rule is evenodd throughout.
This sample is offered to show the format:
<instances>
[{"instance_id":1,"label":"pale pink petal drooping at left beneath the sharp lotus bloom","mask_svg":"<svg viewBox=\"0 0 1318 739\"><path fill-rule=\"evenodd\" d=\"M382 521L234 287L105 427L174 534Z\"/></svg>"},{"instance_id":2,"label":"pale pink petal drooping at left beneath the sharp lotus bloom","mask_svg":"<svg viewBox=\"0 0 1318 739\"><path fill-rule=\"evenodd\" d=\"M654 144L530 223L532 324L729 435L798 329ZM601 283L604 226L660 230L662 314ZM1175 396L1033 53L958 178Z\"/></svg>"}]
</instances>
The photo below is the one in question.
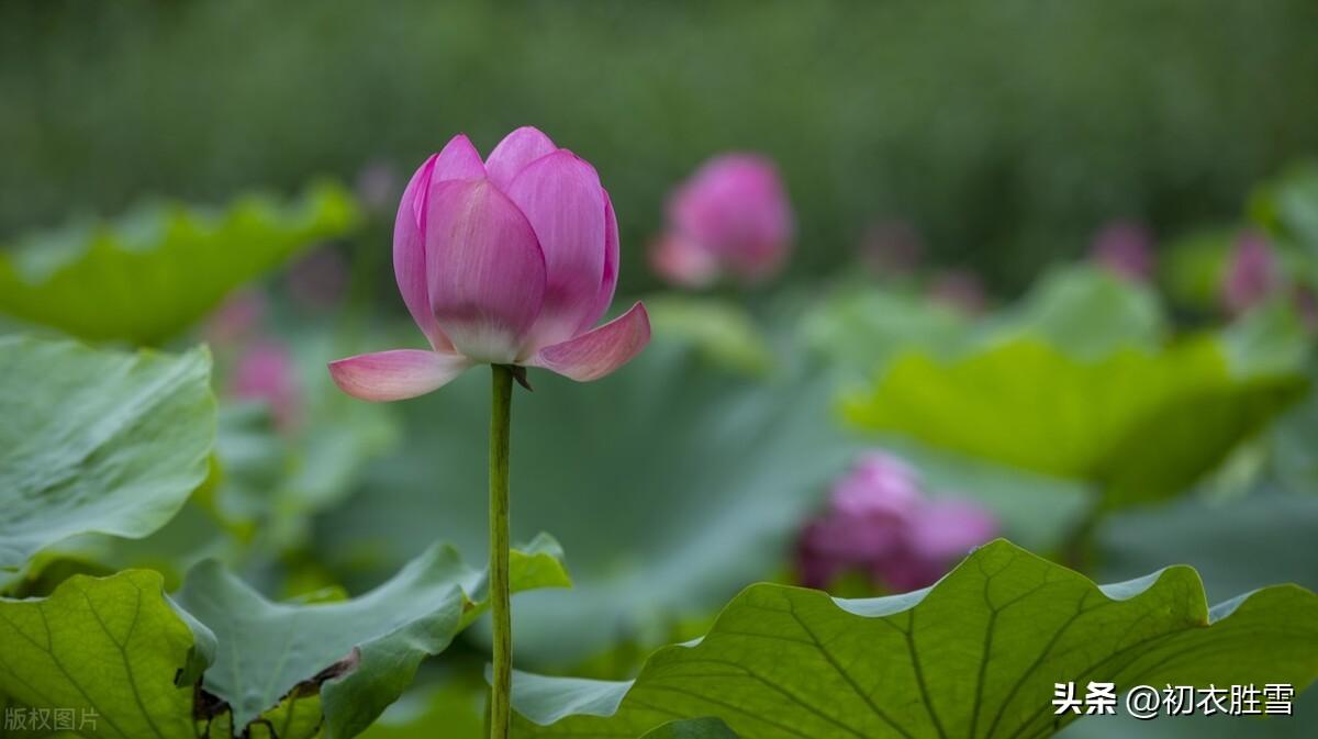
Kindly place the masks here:
<instances>
[{"instance_id":1,"label":"pale pink petal drooping at left beneath the sharp lotus bloom","mask_svg":"<svg viewBox=\"0 0 1318 739\"><path fill-rule=\"evenodd\" d=\"M402 400L438 390L469 366L461 354L394 349L330 362L330 377L353 398Z\"/></svg>"}]
</instances>

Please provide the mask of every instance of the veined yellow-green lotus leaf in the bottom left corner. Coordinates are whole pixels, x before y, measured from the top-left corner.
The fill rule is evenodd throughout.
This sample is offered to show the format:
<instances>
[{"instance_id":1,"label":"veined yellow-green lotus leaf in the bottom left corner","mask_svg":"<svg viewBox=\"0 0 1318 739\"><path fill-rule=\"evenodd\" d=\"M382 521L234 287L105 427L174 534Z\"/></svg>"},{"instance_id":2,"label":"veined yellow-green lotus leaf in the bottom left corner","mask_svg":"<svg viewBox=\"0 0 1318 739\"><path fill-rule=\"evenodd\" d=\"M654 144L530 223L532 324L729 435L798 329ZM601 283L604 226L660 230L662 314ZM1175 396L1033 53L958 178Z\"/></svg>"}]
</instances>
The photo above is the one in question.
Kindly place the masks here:
<instances>
[{"instance_id":1,"label":"veined yellow-green lotus leaf in the bottom left corner","mask_svg":"<svg viewBox=\"0 0 1318 739\"><path fill-rule=\"evenodd\" d=\"M47 598L0 598L0 694L95 715L87 738L194 739L192 682L214 638L177 613L161 576L74 576Z\"/></svg>"}]
</instances>

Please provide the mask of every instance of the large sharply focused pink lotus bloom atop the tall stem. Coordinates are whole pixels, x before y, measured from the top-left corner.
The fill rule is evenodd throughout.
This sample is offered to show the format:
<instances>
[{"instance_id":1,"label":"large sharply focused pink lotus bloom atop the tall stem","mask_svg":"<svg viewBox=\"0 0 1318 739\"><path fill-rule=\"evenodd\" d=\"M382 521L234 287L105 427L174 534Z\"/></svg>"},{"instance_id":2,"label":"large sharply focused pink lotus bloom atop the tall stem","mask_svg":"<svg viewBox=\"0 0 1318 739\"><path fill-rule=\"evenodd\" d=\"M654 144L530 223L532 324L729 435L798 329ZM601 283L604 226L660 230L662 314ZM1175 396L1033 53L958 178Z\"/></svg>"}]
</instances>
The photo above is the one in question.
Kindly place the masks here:
<instances>
[{"instance_id":1,"label":"large sharply focused pink lotus bloom atop the tall stem","mask_svg":"<svg viewBox=\"0 0 1318 739\"><path fill-rule=\"evenodd\" d=\"M598 379L650 341L635 303L592 328L618 282L618 224L594 167L534 128L484 162L465 136L413 175L394 224L394 274L430 350L330 364L365 400L431 393L477 364Z\"/></svg>"}]
</instances>

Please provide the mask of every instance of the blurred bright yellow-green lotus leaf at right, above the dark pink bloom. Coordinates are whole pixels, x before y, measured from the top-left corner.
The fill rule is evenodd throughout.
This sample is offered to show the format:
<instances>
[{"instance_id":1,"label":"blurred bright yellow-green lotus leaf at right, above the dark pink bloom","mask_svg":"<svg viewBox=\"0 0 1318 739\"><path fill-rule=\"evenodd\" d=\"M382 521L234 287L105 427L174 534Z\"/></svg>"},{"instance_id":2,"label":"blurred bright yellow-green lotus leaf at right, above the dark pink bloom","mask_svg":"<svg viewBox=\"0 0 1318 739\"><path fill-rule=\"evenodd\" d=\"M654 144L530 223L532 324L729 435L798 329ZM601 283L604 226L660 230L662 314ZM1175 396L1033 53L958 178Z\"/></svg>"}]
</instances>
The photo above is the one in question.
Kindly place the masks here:
<instances>
[{"instance_id":1,"label":"blurred bright yellow-green lotus leaf at right, above the dark pink bloom","mask_svg":"<svg viewBox=\"0 0 1318 739\"><path fill-rule=\"evenodd\" d=\"M870 391L854 424L1045 474L1086 479L1106 505L1176 494L1307 386L1294 371L1235 373L1218 342L1078 360L1016 340L954 362L912 353Z\"/></svg>"}]
</instances>

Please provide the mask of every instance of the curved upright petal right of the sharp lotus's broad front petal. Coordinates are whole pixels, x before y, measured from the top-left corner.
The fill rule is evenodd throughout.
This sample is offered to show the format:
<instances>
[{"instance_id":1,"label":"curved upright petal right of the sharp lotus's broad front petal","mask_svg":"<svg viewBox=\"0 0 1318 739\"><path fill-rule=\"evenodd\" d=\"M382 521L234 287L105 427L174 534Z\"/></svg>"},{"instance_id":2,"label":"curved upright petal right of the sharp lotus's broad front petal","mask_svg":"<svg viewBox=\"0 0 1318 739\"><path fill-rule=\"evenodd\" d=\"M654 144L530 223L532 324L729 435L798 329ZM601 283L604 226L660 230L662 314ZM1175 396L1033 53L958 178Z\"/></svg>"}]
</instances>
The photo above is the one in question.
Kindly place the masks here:
<instances>
[{"instance_id":1,"label":"curved upright petal right of the sharp lotus's broad front petal","mask_svg":"<svg viewBox=\"0 0 1318 739\"><path fill-rule=\"evenodd\" d=\"M527 165L506 190L526 213L544 252L544 306L535 348L576 336L592 316L604 279L604 190L594 167L560 149Z\"/></svg>"}]
</instances>

